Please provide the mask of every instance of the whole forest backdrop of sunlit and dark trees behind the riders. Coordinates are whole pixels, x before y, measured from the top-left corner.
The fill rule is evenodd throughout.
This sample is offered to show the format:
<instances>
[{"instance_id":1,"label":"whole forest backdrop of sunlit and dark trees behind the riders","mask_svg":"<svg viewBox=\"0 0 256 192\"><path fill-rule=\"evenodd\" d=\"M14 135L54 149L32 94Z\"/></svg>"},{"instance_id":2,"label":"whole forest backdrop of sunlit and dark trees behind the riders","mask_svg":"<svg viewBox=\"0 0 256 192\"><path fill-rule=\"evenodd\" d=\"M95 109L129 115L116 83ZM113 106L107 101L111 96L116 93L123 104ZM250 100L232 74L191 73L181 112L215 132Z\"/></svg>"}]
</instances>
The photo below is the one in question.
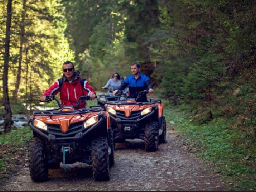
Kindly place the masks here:
<instances>
[{"instance_id":1,"label":"whole forest backdrop of sunlit and dark trees behind the riders","mask_svg":"<svg viewBox=\"0 0 256 192\"><path fill-rule=\"evenodd\" d=\"M8 122L10 103L35 103L66 60L95 90L137 61L165 105L199 124L239 119L255 140L255 0L0 0L0 10Z\"/></svg>"}]
</instances>

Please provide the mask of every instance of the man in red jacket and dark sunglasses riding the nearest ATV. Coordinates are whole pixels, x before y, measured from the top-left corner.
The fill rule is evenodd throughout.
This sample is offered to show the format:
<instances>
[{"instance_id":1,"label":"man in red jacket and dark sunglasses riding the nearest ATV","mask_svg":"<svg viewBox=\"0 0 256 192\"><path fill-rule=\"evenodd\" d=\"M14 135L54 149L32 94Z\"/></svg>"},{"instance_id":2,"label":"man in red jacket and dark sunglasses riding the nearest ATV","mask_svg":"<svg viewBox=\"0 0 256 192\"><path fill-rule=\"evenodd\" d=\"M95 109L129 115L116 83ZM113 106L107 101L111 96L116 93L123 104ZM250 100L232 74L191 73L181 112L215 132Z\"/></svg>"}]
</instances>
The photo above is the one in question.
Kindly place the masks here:
<instances>
[{"instance_id":1,"label":"man in red jacket and dark sunglasses riding the nearest ATV","mask_svg":"<svg viewBox=\"0 0 256 192\"><path fill-rule=\"evenodd\" d=\"M79 77L80 73L75 71L74 63L66 61L62 65L63 76L47 89L40 97L45 101L48 95L57 95L60 93L60 102L62 106L75 106L79 97L89 95L91 100L96 97L96 92L92 89L86 79ZM86 108L86 101L80 103L77 109Z\"/></svg>"}]
</instances>

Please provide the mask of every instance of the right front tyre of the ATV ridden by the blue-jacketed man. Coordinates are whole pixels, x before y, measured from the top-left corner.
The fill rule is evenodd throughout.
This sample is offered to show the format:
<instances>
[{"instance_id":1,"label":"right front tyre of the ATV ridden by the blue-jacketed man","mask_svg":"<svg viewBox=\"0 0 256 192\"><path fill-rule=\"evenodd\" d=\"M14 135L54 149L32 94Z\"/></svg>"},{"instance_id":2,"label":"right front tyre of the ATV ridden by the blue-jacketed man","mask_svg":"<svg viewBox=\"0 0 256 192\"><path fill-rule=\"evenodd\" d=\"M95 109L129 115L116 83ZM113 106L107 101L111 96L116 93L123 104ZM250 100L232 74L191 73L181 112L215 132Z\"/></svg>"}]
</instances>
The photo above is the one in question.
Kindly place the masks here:
<instances>
[{"instance_id":1,"label":"right front tyre of the ATV ridden by the blue-jacketed man","mask_svg":"<svg viewBox=\"0 0 256 192\"><path fill-rule=\"evenodd\" d=\"M145 128L145 149L149 152L158 150L158 124L147 123Z\"/></svg>"}]
</instances>

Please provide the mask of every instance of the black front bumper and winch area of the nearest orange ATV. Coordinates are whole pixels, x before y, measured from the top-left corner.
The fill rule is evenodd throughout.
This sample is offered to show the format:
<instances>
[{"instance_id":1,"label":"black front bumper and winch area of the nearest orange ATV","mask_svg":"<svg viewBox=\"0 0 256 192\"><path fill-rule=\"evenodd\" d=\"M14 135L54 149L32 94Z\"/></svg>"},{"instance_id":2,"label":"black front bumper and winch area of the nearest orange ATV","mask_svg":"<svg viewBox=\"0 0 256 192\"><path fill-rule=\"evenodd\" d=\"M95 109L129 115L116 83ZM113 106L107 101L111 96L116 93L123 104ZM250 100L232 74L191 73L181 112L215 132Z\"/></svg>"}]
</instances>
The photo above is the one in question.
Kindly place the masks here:
<instances>
[{"instance_id":1,"label":"black front bumper and winch area of the nearest orange ATV","mask_svg":"<svg viewBox=\"0 0 256 192\"><path fill-rule=\"evenodd\" d=\"M33 125L33 118L29 120L30 128L35 132L34 137L40 135L41 138L46 140L45 153L47 164L52 162L63 162L65 159L66 164L73 164L75 162L83 162L92 165L91 159L91 141L97 137L106 137L108 142L111 141L110 129L106 129L106 116L99 115L97 123L89 127L89 129L80 129L75 133L65 135L64 133L57 132L52 128L48 128L47 132L38 129ZM77 128L76 126L75 128ZM72 129L72 128L71 128ZM58 134L54 134L54 131ZM72 132L72 131L71 131Z\"/></svg>"}]
</instances>

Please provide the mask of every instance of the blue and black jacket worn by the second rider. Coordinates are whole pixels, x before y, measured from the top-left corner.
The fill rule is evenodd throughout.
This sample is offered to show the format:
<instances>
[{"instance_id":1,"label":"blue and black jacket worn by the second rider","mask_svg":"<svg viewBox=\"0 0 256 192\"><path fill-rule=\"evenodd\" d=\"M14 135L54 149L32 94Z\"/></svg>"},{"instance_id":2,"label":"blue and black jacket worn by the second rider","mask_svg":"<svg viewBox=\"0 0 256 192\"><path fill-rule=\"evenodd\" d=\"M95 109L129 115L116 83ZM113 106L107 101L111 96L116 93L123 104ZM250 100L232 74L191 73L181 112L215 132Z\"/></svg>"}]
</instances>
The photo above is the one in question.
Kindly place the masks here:
<instances>
[{"instance_id":1,"label":"blue and black jacket worn by the second rider","mask_svg":"<svg viewBox=\"0 0 256 192\"><path fill-rule=\"evenodd\" d=\"M150 82L150 79L147 75L142 75L140 73L138 79L135 79L134 75L129 75L118 87L119 91L124 90L129 86L130 98L135 98L138 96L138 93L144 90L153 89L153 86ZM138 101L147 101L147 95L141 97Z\"/></svg>"}]
</instances>

